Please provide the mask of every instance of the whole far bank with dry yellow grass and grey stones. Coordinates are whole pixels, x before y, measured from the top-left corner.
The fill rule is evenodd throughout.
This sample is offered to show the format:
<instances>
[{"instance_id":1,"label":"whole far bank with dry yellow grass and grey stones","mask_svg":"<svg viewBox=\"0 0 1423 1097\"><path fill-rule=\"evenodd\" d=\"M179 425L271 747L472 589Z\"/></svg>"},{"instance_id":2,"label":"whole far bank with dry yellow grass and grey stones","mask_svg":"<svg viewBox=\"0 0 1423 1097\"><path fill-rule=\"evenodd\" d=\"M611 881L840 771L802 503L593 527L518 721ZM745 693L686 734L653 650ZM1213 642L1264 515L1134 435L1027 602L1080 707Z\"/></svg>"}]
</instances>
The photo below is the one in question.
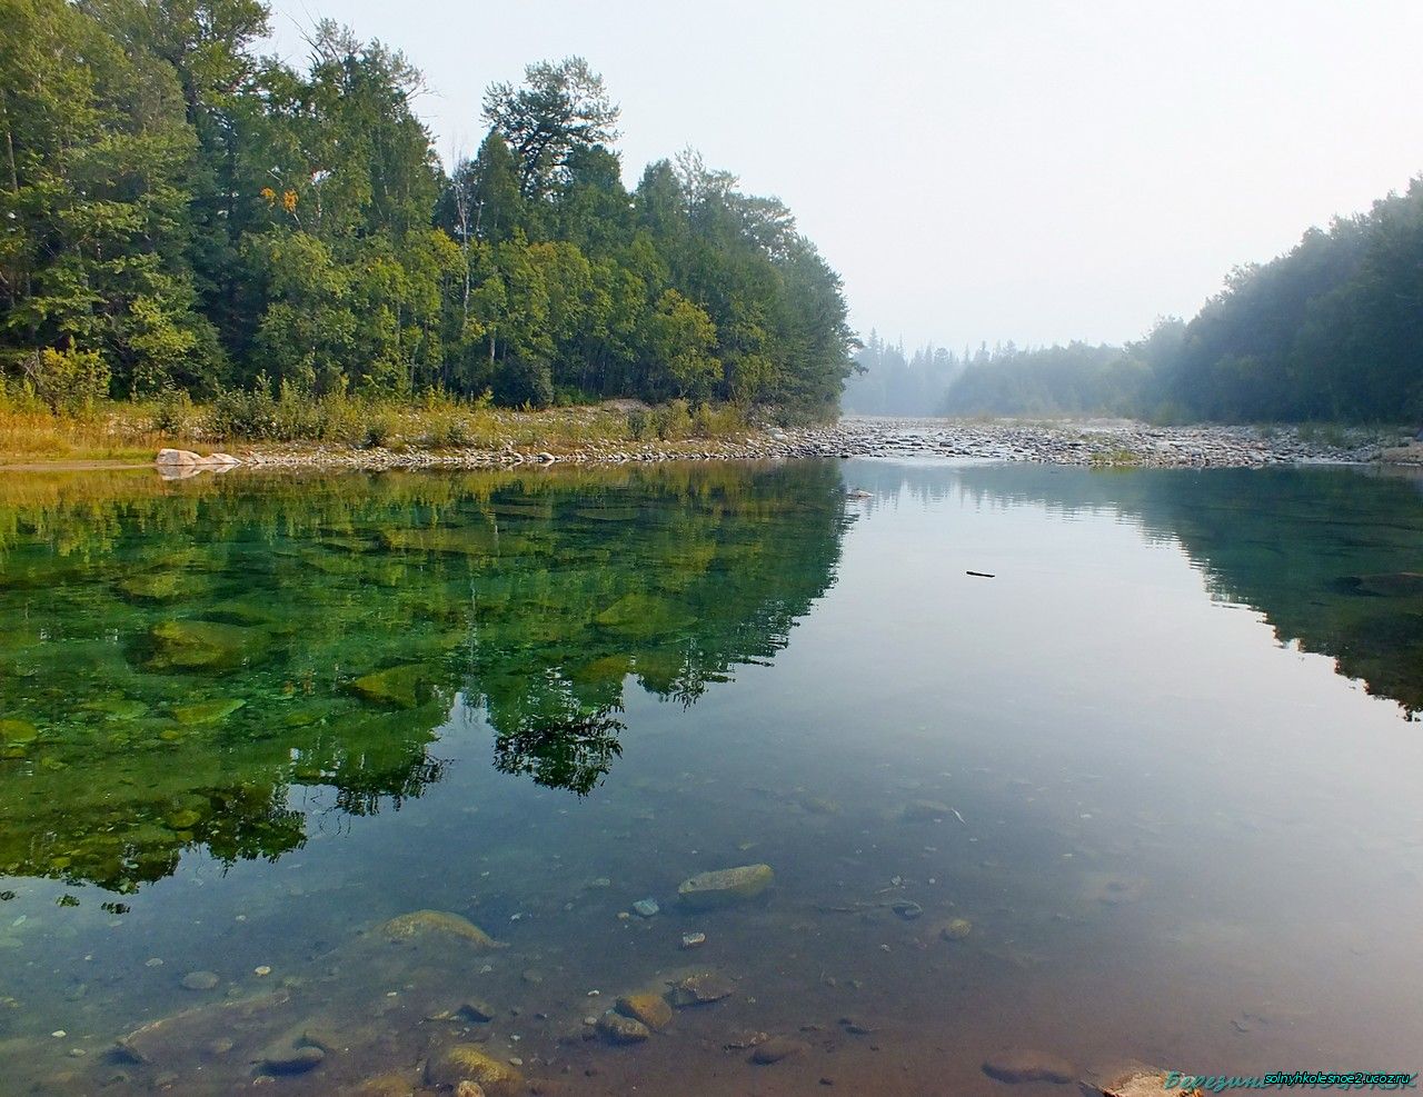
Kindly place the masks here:
<instances>
[{"instance_id":1,"label":"whole far bank with dry yellow grass and grey stones","mask_svg":"<svg viewBox=\"0 0 1423 1097\"><path fill-rule=\"evenodd\" d=\"M388 413L383 413L387 414ZM660 415L660 417L659 417ZM435 421L438 418L438 423ZM1345 427L1158 427L1130 420L911 420L845 417L832 424L780 428L721 411L707 421L677 421L653 408L620 406L461 415L410 411L350 440L221 441L172 437L124 423L122 445L34 450L0 445L0 470L92 468L149 464L172 447L208 455L222 450L235 467L266 470L512 468L657 461L787 460L798 457L949 457L1054 465L1238 468L1279 464L1409 462L1423 448L1403 431ZM407 421L408 420L408 421ZM112 434L117 428L105 428ZM135 433L138 431L138 433ZM147 433L145 433L147 431ZM122 431L121 431L122 433ZM105 435L107 437L107 435ZM222 470L178 461L171 477Z\"/></svg>"}]
</instances>

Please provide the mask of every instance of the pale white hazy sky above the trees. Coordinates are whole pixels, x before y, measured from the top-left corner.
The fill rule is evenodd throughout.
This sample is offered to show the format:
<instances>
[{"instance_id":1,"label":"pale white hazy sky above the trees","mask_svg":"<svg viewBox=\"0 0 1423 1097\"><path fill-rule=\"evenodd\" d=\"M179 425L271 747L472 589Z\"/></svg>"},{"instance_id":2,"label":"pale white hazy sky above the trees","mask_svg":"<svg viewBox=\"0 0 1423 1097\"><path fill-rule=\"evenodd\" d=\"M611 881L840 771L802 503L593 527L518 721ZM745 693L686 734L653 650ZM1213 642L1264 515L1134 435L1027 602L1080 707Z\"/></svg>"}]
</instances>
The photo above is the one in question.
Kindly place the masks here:
<instances>
[{"instance_id":1,"label":"pale white hazy sky above the trees","mask_svg":"<svg viewBox=\"0 0 1423 1097\"><path fill-rule=\"evenodd\" d=\"M852 320L909 346L1120 341L1423 172L1419 0L276 0L401 48L441 155L582 54L629 185L694 145L778 195Z\"/></svg>"}]
</instances>

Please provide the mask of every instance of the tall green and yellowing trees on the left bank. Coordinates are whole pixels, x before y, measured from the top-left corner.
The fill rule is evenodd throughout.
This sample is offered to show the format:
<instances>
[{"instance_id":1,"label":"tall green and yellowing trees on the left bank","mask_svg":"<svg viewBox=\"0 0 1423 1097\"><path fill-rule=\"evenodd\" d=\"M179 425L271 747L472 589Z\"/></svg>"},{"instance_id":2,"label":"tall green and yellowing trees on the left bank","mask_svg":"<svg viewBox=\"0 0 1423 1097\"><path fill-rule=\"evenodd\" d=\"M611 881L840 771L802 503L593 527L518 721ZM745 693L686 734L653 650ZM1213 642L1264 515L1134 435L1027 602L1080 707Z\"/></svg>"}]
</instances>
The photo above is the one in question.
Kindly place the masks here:
<instances>
[{"instance_id":1,"label":"tall green and yellowing trees on the left bank","mask_svg":"<svg viewBox=\"0 0 1423 1097\"><path fill-rule=\"evenodd\" d=\"M622 182L581 58L482 102L445 174L420 73L259 0L0 0L0 364L51 404L225 388L730 400L820 413L840 277L693 152Z\"/></svg>"}]
</instances>

